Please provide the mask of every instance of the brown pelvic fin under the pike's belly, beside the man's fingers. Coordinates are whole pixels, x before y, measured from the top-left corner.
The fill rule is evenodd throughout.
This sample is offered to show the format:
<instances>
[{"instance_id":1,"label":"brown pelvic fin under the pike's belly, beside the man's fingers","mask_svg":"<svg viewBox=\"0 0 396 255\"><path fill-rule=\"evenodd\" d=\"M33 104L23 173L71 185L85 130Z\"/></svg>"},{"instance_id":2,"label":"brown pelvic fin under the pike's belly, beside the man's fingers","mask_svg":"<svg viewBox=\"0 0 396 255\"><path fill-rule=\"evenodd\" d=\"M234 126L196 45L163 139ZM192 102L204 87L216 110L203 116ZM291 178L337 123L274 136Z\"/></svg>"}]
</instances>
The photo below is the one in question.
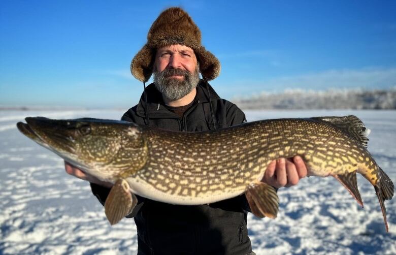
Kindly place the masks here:
<instances>
[{"instance_id":1,"label":"brown pelvic fin under the pike's belly, beside the man's fingers","mask_svg":"<svg viewBox=\"0 0 396 255\"><path fill-rule=\"evenodd\" d=\"M252 183L247 187L245 196L255 216L276 218L279 198L273 186L263 182Z\"/></svg>"}]
</instances>

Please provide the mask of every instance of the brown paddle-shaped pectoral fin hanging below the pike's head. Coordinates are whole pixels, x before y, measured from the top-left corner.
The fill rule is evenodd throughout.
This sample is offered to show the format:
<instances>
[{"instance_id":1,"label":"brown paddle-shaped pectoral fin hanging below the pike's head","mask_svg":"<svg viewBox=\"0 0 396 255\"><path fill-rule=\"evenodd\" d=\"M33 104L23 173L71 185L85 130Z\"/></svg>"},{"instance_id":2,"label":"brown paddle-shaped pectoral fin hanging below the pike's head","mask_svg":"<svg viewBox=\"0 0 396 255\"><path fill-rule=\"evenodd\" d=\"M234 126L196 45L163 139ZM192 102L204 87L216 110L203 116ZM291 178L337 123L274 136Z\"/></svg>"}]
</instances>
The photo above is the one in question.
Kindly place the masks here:
<instances>
[{"instance_id":1,"label":"brown paddle-shaped pectoral fin hanging below the pike's head","mask_svg":"<svg viewBox=\"0 0 396 255\"><path fill-rule=\"evenodd\" d=\"M138 199L129 191L129 184L124 179L114 183L105 202L105 213L111 225L117 224L137 204Z\"/></svg>"}]
</instances>

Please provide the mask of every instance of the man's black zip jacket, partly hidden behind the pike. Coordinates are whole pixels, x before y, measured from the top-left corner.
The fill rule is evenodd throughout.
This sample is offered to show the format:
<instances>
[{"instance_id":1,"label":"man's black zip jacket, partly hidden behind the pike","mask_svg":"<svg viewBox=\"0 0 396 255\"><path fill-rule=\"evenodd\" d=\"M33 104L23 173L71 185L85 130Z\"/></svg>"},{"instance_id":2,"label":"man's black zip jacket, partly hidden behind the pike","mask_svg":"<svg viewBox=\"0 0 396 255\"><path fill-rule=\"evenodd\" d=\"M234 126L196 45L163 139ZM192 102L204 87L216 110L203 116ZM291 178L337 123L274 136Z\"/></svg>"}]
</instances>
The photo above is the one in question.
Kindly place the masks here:
<instances>
[{"instance_id":1,"label":"man's black zip jacket, partly hidden behind the pike","mask_svg":"<svg viewBox=\"0 0 396 255\"><path fill-rule=\"evenodd\" d=\"M150 84L146 88L149 125L174 131L213 130L209 96L217 129L246 122L245 114L234 104L220 99L201 81L193 105L182 119L162 102L161 93ZM147 124L142 95L137 106L122 119ZM103 204L109 189L91 184L93 194ZM251 251L246 217L250 210L244 195L217 203L181 206L138 197L139 204L129 215L138 230L138 254L247 254Z\"/></svg>"}]
</instances>

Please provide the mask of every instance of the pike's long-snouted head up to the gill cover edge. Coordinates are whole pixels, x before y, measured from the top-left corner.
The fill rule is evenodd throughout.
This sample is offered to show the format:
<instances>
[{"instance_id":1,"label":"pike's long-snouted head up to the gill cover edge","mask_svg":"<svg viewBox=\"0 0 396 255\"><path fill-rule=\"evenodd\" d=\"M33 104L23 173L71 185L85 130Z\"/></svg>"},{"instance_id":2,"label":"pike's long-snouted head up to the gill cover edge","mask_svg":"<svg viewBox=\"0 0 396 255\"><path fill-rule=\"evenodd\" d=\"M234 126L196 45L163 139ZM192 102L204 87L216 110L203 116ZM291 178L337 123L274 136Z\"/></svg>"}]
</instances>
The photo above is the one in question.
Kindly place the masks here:
<instances>
[{"instance_id":1,"label":"pike's long-snouted head up to the gill cover edge","mask_svg":"<svg viewBox=\"0 0 396 255\"><path fill-rule=\"evenodd\" d=\"M65 161L110 180L131 174L147 160L140 127L126 121L27 117L18 129Z\"/></svg>"}]
</instances>

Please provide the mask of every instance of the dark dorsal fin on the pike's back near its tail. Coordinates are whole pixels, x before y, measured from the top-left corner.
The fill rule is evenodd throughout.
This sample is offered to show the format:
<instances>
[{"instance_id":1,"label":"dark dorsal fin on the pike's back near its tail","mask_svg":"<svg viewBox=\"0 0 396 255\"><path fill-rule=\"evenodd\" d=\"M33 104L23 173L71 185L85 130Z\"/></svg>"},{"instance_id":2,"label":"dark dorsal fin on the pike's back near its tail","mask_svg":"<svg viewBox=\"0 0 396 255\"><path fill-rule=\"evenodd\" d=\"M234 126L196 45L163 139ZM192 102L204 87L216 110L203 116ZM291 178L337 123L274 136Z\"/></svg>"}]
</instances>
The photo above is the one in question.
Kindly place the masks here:
<instances>
[{"instance_id":1,"label":"dark dorsal fin on the pike's back near its tail","mask_svg":"<svg viewBox=\"0 0 396 255\"><path fill-rule=\"evenodd\" d=\"M363 146L367 148L367 142L369 139L367 136L370 130L366 129L365 124L356 116L348 115L343 117L337 116L325 116L325 117L312 117L311 119L322 120L332 123L338 126L340 129L346 131L355 140L360 142Z\"/></svg>"}]
</instances>

